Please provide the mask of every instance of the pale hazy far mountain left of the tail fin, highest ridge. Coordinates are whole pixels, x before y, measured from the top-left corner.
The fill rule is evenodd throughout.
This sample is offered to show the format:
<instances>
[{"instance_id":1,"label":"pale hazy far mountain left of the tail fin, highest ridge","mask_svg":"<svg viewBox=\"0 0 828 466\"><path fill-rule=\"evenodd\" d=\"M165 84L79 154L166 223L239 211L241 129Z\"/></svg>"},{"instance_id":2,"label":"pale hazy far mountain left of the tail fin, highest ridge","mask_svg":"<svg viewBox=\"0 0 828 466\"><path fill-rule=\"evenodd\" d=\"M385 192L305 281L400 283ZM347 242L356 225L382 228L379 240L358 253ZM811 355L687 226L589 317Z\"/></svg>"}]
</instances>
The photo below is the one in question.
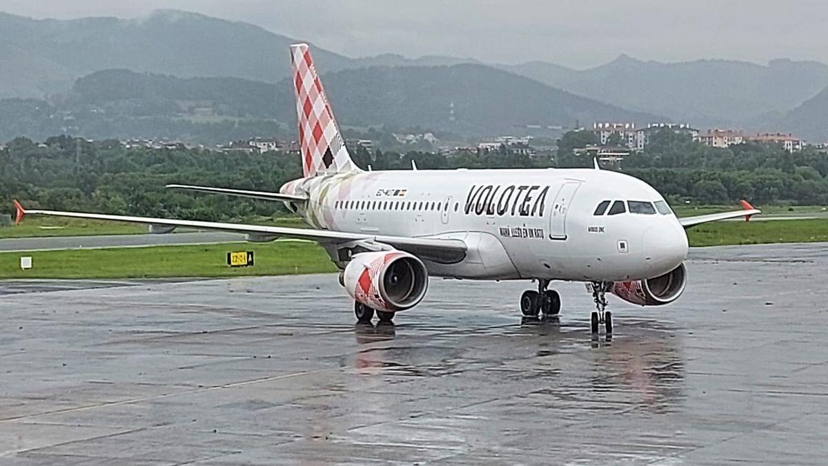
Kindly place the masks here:
<instances>
[{"instance_id":1,"label":"pale hazy far mountain left of the tail fin, highest ridge","mask_svg":"<svg viewBox=\"0 0 828 466\"><path fill-rule=\"evenodd\" d=\"M296 39L243 22L160 10L124 20L95 17L34 20L0 13L0 95L36 96L97 70L124 68L190 76L235 76L277 82L290 73ZM320 71L350 59L314 46Z\"/></svg>"}]
</instances>

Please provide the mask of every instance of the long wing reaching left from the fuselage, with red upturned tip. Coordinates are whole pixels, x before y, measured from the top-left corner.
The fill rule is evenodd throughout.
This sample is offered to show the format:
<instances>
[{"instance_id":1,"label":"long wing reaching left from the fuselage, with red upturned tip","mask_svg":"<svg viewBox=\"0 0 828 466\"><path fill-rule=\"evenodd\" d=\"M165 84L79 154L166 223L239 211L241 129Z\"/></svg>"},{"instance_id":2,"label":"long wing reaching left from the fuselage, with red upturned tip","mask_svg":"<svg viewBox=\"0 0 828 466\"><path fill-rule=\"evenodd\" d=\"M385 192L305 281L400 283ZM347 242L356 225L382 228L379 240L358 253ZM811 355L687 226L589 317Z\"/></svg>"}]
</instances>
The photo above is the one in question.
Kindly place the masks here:
<instances>
[{"instance_id":1,"label":"long wing reaching left from the fuselage, with red upturned tip","mask_svg":"<svg viewBox=\"0 0 828 466\"><path fill-rule=\"evenodd\" d=\"M26 215L63 216L71 218L86 218L103 221L125 221L142 223L155 227L158 231L171 231L172 228L183 226L201 230L230 231L246 233L248 240L269 241L277 238L296 238L312 240L324 244L343 244L351 241L368 240L384 245L391 245L399 250L405 250L413 255L419 255L437 262L450 263L463 260L466 254L466 244L463 240L440 238L416 238L392 235L365 235L362 233L347 233L344 231L314 230L305 228L291 228L286 226L245 225L240 223L223 223L217 221L190 221L142 216L113 216L107 214L91 214L84 212L41 211L23 209L18 201L14 201L17 209L17 222Z\"/></svg>"}]
</instances>

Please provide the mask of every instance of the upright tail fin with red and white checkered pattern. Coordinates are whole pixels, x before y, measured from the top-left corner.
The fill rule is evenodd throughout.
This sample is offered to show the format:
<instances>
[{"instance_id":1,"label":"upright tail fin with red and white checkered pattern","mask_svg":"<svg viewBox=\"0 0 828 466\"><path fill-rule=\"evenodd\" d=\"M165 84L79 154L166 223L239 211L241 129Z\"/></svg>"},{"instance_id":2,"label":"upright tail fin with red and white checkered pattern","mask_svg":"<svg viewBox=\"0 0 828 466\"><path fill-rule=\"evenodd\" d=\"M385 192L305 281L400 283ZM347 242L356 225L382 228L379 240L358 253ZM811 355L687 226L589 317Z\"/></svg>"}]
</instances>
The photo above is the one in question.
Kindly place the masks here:
<instances>
[{"instance_id":1,"label":"upright tail fin with red and white checkered pattern","mask_svg":"<svg viewBox=\"0 0 828 466\"><path fill-rule=\"evenodd\" d=\"M359 170L345 148L307 44L291 46L291 61L305 177Z\"/></svg>"}]
</instances>

